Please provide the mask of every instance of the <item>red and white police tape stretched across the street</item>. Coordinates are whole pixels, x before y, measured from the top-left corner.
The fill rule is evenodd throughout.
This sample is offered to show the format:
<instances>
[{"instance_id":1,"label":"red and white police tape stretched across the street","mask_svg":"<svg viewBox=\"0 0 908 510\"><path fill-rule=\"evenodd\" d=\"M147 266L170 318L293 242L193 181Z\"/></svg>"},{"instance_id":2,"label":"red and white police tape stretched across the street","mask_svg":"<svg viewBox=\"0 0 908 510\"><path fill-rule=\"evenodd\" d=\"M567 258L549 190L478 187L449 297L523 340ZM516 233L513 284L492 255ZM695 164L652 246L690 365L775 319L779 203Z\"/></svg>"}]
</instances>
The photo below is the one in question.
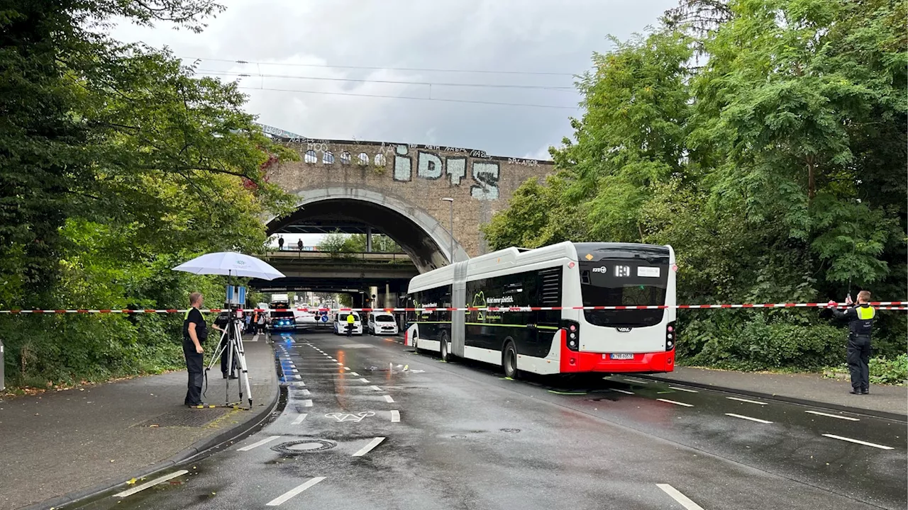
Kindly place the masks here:
<instances>
[{"instance_id":1,"label":"red and white police tape stretched across the street","mask_svg":"<svg viewBox=\"0 0 908 510\"><path fill-rule=\"evenodd\" d=\"M880 310L908 310L908 301L873 301L869 303L873 308ZM834 308L844 309L852 305L835 303ZM560 310L642 310L642 309L793 309L793 308L828 308L828 303L744 303L735 305L648 305L648 306L589 306L589 307L415 307L415 308L292 308L292 309L200 309L203 313L221 313L229 311L356 311L356 312L395 312L395 311L496 311L496 312L521 312L521 311L560 311ZM122 313L122 314L157 314L157 313L185 313L189 309L5 309L0 314L86 314L86 313Z\"/></svg>"}]
</instances>

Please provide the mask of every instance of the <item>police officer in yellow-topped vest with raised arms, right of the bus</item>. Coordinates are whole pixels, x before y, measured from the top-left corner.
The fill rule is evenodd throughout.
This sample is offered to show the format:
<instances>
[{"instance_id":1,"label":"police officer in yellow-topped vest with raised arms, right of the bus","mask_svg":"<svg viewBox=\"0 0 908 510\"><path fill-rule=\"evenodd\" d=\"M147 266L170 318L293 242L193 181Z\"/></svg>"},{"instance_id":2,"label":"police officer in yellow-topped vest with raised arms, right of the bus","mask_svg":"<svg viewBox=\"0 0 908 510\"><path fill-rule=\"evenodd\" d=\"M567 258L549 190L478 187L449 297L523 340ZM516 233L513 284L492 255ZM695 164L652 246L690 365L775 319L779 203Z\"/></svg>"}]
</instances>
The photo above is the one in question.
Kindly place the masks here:
<instances>
[{"instance_id":1,"label":"police officer in yellow-topped vest with raised arms, right of the bus","mask_svg":"<svg viewBox=\"0 0 908 510\"><path fill-rule=\"evenodd\" d=\"M852 304L851 297L845 303ZM836 319L848 319L848 371L851 372L854 395L870 393L870 333L876 310L870 306L870 292L862 290L857 294L857 304L843 311L834 308L835 301L829 301Z\"/></svg>"}]
</instances>

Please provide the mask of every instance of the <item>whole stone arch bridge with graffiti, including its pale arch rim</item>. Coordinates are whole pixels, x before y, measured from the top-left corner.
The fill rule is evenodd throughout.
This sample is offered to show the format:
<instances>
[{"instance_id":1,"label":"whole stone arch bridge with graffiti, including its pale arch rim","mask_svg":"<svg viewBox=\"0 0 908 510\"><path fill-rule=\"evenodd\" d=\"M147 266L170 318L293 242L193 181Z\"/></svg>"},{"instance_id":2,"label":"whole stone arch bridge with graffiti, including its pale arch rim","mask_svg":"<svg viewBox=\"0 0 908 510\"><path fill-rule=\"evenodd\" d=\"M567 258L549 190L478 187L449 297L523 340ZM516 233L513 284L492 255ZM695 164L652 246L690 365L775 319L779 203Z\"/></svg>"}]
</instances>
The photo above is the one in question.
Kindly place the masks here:
<instances>
[{"instance_id":1,"label":"whole stone arch bridge with graffiti, including its pale arch rim","mask_svg":"<svg viewBox=\"0 0 908 510\"><path fill-rule=\"evenodd\" d=\"M397 241L419 272L485 253L479 225L524 181L552 172L551 162L460 147L269 134L301 155L268 170L269 181L297 197L296 211L267 221L270 234L293 225L369 225Z\"/></svg>"}]
</instances>

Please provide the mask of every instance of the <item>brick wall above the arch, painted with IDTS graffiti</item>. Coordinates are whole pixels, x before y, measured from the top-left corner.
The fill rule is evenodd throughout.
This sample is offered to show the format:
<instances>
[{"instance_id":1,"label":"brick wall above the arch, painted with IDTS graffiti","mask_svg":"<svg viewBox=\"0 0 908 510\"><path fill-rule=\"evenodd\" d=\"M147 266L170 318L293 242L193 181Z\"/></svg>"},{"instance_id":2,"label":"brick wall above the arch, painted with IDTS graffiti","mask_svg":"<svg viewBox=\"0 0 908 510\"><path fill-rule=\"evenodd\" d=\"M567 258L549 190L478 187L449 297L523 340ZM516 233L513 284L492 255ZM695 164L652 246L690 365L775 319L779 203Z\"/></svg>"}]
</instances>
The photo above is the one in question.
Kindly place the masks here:
<instances>
[{"instance_id":1,"label":"brick wall above the arch, painted with IDTS graffiti","mask_svg":"<svg viewBox=\"0 0 908 510\"><path fill-rule=\"evenodd\" d=\"M479 225L506 208L524 181L552 172L551 162L458 147L310 139L283 143L300 152L301 161L275 165L268 177L301 197L330 188L349 190L347 195L378 192L428 214L445 231L449 204L440 199L453 198L454 237L471 257L487 250ZM381 228L381 219L374 225Z\"/></svg>"}]
</instances>

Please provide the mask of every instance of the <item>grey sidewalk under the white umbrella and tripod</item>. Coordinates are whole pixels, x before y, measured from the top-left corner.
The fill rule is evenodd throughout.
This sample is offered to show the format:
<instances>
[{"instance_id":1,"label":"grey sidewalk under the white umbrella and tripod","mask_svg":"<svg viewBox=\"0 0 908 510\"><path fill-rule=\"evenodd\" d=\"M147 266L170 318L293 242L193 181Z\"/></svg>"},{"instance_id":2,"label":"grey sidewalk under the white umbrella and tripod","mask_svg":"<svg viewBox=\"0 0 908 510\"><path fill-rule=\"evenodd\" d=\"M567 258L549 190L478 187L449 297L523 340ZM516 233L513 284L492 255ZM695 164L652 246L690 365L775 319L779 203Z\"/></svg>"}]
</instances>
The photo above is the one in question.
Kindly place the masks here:
<instances>
[{"instance_id":1,"label":"grey sidewalk under the white umbrella and tripod","mask_svg":"<svg viewBox=\"0 0 908 510\"><path fill-rule=\"evenodd\" d=\"M185 371L0 400L0 509L62 505L185 460L262 421L278 397L274 354L263 335L244 339L252 410L183 406ZM222 405L220 367L208 383L203 400Z\"/></svg>"}]
</instances>

